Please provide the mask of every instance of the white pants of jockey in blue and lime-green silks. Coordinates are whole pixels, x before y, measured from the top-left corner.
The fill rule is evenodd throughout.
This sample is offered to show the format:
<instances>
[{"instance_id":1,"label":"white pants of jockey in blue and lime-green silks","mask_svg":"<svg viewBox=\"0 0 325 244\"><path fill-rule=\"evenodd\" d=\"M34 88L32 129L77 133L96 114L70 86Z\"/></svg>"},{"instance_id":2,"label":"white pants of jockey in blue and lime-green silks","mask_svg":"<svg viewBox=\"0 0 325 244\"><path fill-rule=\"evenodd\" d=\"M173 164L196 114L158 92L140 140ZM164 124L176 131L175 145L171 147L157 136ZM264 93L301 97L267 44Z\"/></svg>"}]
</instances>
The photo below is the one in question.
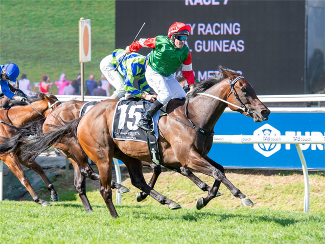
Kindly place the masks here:
<instances>
[{"instance_id":1,"label":"white pants of jockey in blue and lime-green silks","mask_svg":"<svg viewBox=\"0 0 325 244\"><path fill-rule=\"evenodd\" d=\"M116 89L113 94L122 98L126 91L124 90L124 80L121 75L115 71L112 64L113 55L106 56L99 64L99 68L103 75L106 77L107 81L110 82Z\"/></svg>"}]
</instances>

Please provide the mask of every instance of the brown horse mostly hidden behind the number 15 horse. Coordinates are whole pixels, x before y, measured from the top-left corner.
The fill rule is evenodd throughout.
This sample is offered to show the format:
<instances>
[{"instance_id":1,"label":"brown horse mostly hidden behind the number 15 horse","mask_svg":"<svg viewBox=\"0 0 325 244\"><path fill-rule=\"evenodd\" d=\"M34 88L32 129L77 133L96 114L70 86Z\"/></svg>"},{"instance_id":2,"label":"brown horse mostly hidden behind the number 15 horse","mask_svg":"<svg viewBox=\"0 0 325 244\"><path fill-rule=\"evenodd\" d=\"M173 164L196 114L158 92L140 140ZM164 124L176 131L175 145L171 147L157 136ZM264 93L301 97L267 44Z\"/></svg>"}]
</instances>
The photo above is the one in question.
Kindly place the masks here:
<instances>
[{"instance_id":1,"label":"brown horse mostly hidden behind the number 15 horse","mask_svg":"<svg viewBox=\"0 0 325 244\"><path fill-rule=\"evenodd\" d=\"M15 138L7 138L4 141L8 145L7 149L10 149L9 152L15 151L17 147L20 146L17 144L17 141L22 140L22 138L28 137L31 134L32 135L39 134L39 131L42 130L44 134L48 134L49 132L53 131L55 127L58 127L60 122L62 121L68 122L75 118L78 118L79 112L84 104L85 102L81 102L81 101L70 101L70 102L62 103L52 113L50 113L47 116L44 123L38 123L36 124L36 127L27 126L25 128L20 128L20 131L16 133ZM43 125L43 129L37 128L38 125L41 126ZM34 140L34 142L28 143L25 146L23 146L23 151L25 152L23 156L27 160L31 158L35 159L43 150L45 150L47 146L50 145L50 142L47 140L47 137L45 137L45 140L40 140L38 138L35 139L36 140ZM53 146L55 146L72 163L75 172L75 183L74 183L75 188L85 207L85 210L88 212L92 211L92 207L86 196L84 177L88 177L90 179L93 179L94 181L99 182L99 175L94 173L93 169L89 166L88 156L84 153L78 140L73 140L73 139L71 140L69 136L66 136L64 134L62 135L62 139L57 140L56 143L53 143ZM35 148L37 148L37 151L34 150ZM0 153L8 153L8 151L4 151L4 148L2 148L1 150L0 148ZM156 165L154 163L148 163L148 162L142 162L142 164L144 166L148 166L152 168L153 175L148 184L151 187L154 187L158 179L158 176L161 173L160 165ZM186 176L192 182L197 184L203 191L209 191L211 189L209 185L202 182L190 170L184 167L168 166L168 165L166 165L166 167ZM112 181L111 183L111 188L117 188L118 193L124 193L129 191L129 189L127 189L125 186L120 185L114 181ZM221 195L221 193L219 193L219 195ZM146 197L147 197L146 193L140 192L137 194L137 201L140 202L144 200Z\"/></svg>"}]
</instances>

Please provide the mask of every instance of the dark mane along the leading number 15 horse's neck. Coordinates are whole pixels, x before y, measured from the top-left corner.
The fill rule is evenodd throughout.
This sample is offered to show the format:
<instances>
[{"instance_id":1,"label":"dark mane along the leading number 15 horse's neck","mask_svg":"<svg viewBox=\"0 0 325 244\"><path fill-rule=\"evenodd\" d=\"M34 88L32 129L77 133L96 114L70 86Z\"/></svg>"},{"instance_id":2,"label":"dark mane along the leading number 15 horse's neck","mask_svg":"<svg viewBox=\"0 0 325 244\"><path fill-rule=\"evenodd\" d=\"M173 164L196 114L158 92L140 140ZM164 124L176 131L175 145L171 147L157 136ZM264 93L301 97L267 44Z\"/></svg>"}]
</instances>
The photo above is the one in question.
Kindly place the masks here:
<instances>
[{"instance_id":1,"label":"dark mane along the leading number 15 horse's neck","mask_svg":"<svg viewBox=\"0 0 325 244\"><path fill-rule=\"evenodd\" d=\"M214 75L213 77L205 80L205 81L200 81L195 88L193 89L192 92L187 93L186 98L194 98L198 96L198 93L203 93L206 90L208 90L210 87L213 85L219 83L220 81L225 80L227 77L225 77L225 72L229 72L232 75L237 75L240 76L240 74L232 69L225 68L221 65L218 67L218 74Z\"/></svg>"}]
</instances>

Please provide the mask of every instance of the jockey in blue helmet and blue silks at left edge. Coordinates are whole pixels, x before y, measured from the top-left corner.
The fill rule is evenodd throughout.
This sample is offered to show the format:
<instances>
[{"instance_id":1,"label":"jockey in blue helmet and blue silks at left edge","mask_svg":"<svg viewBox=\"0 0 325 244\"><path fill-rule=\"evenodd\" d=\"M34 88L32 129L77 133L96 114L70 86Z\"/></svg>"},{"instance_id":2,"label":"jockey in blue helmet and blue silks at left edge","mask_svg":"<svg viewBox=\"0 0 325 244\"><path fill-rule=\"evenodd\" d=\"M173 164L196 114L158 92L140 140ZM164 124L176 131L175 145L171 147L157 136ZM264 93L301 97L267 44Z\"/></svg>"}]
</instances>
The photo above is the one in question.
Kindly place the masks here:
<instances>
[{"instance_id":1,"label":"jockey in blue helmet and blue silks at left edge","mask_svg":"<svg viewBox=\"0 0 325 244\"><path fill-rule=\"evenodd\" d=\"M6 96L9 99L24 101L26 100L23 96L18 96L13 93L9 88L8 81L16 81L19 76L19 68L15 63L9 62L5 65L0 64L0 86L1 91L0 97L2 95ZM23 94L24 95L24 94Z\"/></svg>"}]
</instances>

